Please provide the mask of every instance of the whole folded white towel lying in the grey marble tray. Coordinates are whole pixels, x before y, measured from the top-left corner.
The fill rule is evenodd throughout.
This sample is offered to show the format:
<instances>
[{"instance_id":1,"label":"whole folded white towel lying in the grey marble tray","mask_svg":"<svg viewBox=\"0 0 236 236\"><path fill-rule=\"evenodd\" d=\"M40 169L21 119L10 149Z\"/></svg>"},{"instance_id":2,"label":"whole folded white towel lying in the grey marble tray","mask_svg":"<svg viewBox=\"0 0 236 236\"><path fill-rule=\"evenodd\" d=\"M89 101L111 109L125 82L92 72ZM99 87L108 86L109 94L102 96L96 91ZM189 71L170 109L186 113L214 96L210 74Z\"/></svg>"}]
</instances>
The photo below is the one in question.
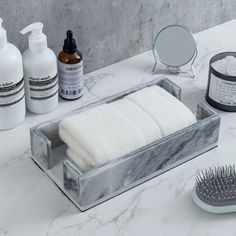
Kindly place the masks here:
<instances>
[{"instance_id":1,"label":"whole folded white towel lying in the grey marble tray","mask_svg":"<svg viewBox=\"0 0 236 236\"><path fill-rule=\"evenodd\" d=\"M59 135L67 155L88 171L195 122L183 103L152 86L63 119Z\"/></svg>"}]
</instances>

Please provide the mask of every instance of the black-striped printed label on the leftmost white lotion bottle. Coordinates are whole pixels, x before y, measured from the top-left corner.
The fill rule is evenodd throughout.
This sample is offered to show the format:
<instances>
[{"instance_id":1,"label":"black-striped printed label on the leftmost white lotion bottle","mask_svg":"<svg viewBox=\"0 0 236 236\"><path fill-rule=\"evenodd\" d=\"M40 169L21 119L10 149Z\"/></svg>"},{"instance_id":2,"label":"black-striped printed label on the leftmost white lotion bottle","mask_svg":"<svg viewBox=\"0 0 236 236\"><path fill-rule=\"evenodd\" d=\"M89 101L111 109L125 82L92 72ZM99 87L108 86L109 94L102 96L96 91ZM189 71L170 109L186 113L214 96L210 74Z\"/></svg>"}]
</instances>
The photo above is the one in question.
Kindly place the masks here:
<instances>
[{"instance_id":1,"label":"black-striped printed label on the leftmost white lotion bottle","mask_svg":"<svg viewBox=\"0 0 236 236\"><path fill-rule=\"evenodd\" d=\"M20 102L24 96L24 79L15 84L0 82L0 107L14 105Z\"/></svg>"}]
</instances>

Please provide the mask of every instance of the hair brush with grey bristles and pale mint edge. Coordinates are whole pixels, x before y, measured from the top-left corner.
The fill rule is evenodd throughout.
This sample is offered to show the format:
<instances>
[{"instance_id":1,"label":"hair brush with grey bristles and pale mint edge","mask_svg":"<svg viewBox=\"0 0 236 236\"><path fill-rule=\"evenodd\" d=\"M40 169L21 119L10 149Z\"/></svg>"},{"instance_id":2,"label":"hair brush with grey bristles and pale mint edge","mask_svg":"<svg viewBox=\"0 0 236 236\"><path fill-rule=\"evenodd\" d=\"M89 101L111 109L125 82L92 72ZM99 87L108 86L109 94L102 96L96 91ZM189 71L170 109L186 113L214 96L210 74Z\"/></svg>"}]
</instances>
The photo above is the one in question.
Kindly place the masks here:
<instances>
[{"instance_id":1,"label":"hair brush with grey bristles and pale mint edge","mask_svg":"<svg viewBox=\"0 0 236 236\"><path fill-rule=\"evenodd\" d=\"M235 166L215 167L200 172L193 188L194 202L212 213L236 212Z\"/></svg>"}]
</instances>

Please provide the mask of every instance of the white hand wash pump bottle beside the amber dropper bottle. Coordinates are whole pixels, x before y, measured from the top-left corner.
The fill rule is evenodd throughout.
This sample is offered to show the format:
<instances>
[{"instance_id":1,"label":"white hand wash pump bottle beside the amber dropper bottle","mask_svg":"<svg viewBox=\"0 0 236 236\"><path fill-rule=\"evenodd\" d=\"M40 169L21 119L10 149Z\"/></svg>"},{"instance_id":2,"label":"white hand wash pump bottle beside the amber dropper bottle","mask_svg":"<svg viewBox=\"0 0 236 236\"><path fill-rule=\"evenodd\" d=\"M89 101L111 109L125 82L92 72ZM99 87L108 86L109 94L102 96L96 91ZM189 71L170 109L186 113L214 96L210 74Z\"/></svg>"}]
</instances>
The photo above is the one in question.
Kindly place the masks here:
<instances>
[{"instance_id":1,"label":"white hand wash pump bottle beside the amber dropper bottle","mask_svg":"<svg viewBox=\"0 0 236 236\"><path fill-rule=\"evenodd\" d=\"M47 46L42 23L27 26L21 34L29 32L29 48L23 54L26 107L33 113L48 113L58 106L57 57Z\"/></svg>"}]
</instances>

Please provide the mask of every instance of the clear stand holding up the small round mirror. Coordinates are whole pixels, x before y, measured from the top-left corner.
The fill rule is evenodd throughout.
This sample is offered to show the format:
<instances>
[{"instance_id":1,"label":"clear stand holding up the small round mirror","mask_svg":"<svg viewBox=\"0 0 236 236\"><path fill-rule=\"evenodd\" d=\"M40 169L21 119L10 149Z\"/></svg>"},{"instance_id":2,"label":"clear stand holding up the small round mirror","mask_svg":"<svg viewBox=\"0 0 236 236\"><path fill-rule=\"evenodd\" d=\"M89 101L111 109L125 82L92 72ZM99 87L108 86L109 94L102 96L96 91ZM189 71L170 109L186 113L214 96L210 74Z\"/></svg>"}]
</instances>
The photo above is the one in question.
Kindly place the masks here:
<instances>
[{"instance_id":1,"label":"clear stand holding up the small round mirror","mask_svg":"<svg viewBox=\"0 0 236 236\"><path fill-rule=\"evenodd\" d=\"M191 62L188 63L190 68L187 68L185 70L182 70L180 66L167 66L163 64L159 59L158 56L156 55L155 52L153 52L154 57L156 59L156 62L154 64L154 67L152 69L152 74L168 74L168 75L180 75L188 78L194 78L195 77L195 70L193 63L197 58L198 51L196 50L195 55ZM161 68L161 65L165 68ZM186 65L187 66L187 65Z\"/></svg>"}]
</instances>

